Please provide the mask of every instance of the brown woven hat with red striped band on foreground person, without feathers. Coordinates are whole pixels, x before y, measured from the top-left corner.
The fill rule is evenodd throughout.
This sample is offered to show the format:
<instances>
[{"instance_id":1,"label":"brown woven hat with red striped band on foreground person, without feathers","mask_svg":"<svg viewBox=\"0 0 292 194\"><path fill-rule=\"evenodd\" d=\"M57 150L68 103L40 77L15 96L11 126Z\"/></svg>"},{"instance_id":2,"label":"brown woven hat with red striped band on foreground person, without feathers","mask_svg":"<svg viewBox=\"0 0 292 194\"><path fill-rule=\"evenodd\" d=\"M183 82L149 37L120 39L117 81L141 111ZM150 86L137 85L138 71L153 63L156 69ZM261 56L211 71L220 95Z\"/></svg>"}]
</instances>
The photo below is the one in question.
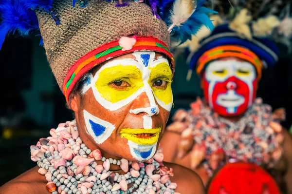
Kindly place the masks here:
<instances>
[{"instance_id":1,"label":"brown woven hat with red striped band on foreground person, without feathers","mask_svg":"<svg viewBox=\"0 0 292 194\"><path fill-rule=\"evenodd\" d=\"M157 42L169 48L170 35L166 24L162 19L153 17L150 7L145 3L132 2L128 6L116 7L114 2L91 0L85 8L80 8L73 7L71 0L56 0L53 8L60 13L60 25L55 25L51 15L45 11L37 12L37 18L48 61L64 94L68 89L73 89L74 83L83 75L80 72L83 68L86 69L83 72L88 71L106 59L127 53L119 52L122 47L118 48L118 41L112 45L106 43L123 36L136 35L152 37L146 40L149 44ZM110 48L116 49L103 55ZM134 48L134 51L138 50L145 48ZM172 58L169 51L161 52ZM88 60L91 57L93 59ZM93 63L89 65L84 61ZM80 64L84 67L80 68ZM78 67L80 71L76 72Z\"/></svg>"}]
</instances>

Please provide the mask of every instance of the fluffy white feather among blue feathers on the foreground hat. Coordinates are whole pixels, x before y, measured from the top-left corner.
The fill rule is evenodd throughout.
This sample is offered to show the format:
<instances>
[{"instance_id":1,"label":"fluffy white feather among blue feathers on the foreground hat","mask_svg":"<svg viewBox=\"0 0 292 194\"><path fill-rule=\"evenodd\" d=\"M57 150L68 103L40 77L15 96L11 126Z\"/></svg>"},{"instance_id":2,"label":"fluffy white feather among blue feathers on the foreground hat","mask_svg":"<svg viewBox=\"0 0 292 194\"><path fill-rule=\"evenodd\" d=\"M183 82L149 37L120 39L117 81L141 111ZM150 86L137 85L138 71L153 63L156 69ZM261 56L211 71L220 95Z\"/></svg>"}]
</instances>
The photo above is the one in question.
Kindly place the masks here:
<instances>
[{"instance_id":1,"label":"fluffy white feather among blue feathers on the foreground hat","mask_svg":"<svg viewBox=\"0 0 292 194\"><path fill-rule=\"evenodd\" d=\"M175 26L182 26L194 13L195 9L195 0L176 0L171 11L172 24L168 28L168 31L171 32L172 28Z\"/></svg>"}]
</instances>

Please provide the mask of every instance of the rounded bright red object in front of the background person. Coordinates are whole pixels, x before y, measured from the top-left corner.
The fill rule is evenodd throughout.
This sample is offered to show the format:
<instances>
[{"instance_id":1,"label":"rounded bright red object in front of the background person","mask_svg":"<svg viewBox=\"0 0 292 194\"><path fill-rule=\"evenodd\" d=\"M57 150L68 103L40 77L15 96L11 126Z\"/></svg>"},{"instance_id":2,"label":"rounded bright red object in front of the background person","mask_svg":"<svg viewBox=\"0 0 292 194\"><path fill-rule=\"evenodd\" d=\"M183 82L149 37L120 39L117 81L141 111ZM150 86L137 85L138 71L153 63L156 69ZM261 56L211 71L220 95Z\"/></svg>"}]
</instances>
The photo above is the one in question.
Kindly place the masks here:
<instances>
[{"instance_id":1,"label":"rounded bright red object in front of the background person","mask_svg":"<svg viewBox=\"0 0 292 194\"><path fill-rule=\"evenodd\" d=\"M280 194L273 177L254 163L228 163L212 179L208 194Z\"/></svg>"}]
</instances>

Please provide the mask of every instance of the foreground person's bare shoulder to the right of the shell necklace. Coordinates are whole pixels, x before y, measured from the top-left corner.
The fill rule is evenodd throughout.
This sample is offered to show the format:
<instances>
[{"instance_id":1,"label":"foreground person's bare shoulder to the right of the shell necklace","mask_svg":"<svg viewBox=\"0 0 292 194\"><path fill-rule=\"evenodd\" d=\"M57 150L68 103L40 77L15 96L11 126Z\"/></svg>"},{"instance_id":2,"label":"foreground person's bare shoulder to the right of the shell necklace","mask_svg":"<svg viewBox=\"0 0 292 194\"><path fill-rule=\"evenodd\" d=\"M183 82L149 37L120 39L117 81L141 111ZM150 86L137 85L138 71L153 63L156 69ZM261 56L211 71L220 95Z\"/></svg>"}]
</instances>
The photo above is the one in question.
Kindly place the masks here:
<instances>
[{"instance_id":1,"label":"foreground person's bare shoulder to the right of the shell necklace","mask_svg":"<svg viewBox=\"0 0 292 194\"><path fill-rule=\"evenodd\" d=\"M178 164L167 163L165 165L173 168L174 176L171 181L178 185L175 190L180 194L204 194L205 189L202 180L195 172Z\"/></svg>"}]
</instances>

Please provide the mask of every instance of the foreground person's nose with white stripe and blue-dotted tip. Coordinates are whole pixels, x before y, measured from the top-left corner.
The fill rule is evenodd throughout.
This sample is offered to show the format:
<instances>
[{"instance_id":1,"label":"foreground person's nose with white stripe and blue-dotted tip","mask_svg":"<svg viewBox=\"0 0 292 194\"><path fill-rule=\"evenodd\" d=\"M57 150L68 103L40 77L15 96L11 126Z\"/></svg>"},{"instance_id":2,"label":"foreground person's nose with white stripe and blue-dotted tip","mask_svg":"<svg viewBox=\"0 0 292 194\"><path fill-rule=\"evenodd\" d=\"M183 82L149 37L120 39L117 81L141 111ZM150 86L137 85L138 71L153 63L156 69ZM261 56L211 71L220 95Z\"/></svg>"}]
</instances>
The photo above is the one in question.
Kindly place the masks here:
<instances>
[{"instance_id":1,"label":"foreground person's nose with white stripe and blue-dotted tip","mask_svg":"<svg viewBox=\"0 0 292 194\"><path fill-rule=\"evenodd\" d=\"M156 104L152 91L146 91L134 99L130 113L138 115L145 114L146 116L153 116L159 113L159 107Z\"/></svg>"}]
</instances>

